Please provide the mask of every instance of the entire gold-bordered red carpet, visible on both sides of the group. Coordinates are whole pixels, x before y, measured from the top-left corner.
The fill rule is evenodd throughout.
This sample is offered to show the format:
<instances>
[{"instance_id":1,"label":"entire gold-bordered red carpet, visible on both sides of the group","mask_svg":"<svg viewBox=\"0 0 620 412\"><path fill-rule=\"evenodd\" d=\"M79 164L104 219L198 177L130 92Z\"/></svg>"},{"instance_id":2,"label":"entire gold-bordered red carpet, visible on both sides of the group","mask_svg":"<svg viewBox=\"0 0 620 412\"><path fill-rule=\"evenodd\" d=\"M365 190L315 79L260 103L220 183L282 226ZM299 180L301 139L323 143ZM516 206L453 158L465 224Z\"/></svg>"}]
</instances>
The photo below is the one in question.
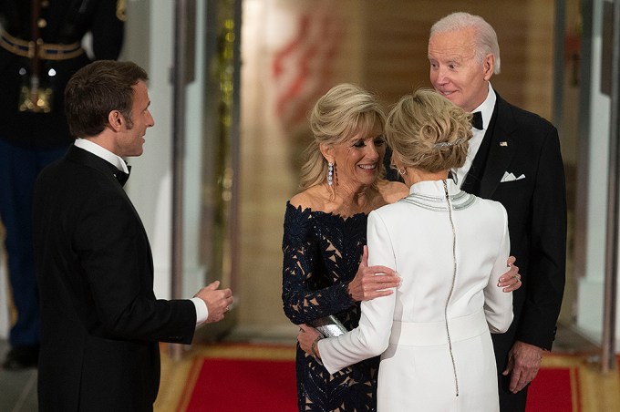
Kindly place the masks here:
<instances>
[{"instance_id":1,"label":"entire gold-bordered red carpet, visible on both sides of the group","mask_svg":"<svg viewBox=\"0 0 620 412\"><path fill-rule=\"evenodd\" d=\"M294 349L231 345L223 350L193 361L177 412L297 409ZM578 366L547 366L530 386L526 412L583 412L581 404Z\"/></svg>"}]
</instances>

